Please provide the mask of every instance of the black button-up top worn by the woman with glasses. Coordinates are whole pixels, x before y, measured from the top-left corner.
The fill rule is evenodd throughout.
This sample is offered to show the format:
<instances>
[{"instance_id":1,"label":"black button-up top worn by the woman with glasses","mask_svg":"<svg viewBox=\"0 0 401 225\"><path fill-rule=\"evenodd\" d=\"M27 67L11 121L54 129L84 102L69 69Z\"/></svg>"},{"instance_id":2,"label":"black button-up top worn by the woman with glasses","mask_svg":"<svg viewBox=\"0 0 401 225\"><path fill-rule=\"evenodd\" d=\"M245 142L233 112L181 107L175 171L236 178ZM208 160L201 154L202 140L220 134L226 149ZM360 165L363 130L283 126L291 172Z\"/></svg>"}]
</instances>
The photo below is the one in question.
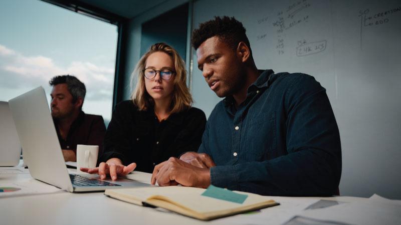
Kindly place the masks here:
<instances>
[{"instance_id":1,"label":"black button-up top worn by the woman with glasses","mask_svg":"<svg viewBox=\"0 0 401 225\"><path fill-rule=\"evenodd\" d=\"M104 138L100 162L117 157L135 170L152 172L156 164L185 151L197 151L205 130L205 113L195 107L158 121L153 108L141 111L132 100L116 105Z\"/></svg>"}]
</instances>

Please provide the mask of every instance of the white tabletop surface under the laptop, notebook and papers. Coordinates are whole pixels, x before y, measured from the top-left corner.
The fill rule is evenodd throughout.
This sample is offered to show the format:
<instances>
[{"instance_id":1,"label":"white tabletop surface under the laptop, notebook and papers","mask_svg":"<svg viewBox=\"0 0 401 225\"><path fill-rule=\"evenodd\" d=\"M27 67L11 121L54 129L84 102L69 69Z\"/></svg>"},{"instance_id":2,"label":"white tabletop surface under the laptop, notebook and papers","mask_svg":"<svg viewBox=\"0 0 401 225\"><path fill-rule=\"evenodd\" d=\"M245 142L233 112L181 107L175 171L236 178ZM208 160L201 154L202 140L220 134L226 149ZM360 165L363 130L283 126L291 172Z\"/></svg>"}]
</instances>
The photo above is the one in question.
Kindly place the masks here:
<instances>
[{"instance_id":1,"label":"white tabletop surface under the laptop, notebook and papers","mask_svg":"<svg viewBox=\"0 0 401 225\"><path fill-rule=\"evenodd\" d=\"M150 181L150 173L134 171L128 177ZM30 174L0 174L0 183L32 180ZM41 184L42 185L42 184ZM44 186L48 185L43 183ZM317 199L315 197L288 199ZM319 197L319 199L323 199ZM338 201L363 201L359 197L328 197ZM294 200L295 201L295 200ZM288 206L288 204L287 204ZM275 210L285 205L275 206ZM285 209L285 208L284 208ZM263 209L269 210L269 208ZM249 215L237 215L249 216ZM233 218L233 217L232 217ZM232 219L231 218L231 219ZM235 217L240 218L240 217ZM0 224L230 224L230 218L200 221L182 215L109 198L103 192L58 192L0 198ZM266 221L266 224L269 221Z\"/></svg>"}]
</instances>

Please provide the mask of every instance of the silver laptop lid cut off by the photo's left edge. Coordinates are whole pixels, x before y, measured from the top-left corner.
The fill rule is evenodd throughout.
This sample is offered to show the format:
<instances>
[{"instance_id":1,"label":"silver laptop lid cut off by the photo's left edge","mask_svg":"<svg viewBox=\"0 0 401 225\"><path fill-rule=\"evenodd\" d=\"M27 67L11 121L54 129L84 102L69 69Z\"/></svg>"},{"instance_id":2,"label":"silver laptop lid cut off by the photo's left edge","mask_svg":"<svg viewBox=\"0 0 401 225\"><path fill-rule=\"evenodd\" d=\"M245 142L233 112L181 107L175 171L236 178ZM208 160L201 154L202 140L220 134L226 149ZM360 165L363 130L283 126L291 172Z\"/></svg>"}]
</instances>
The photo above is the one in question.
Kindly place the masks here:
<instances>
[{"instance_id":1,"label":"silver laptop lid cut off by the photo's left edge","mask_svg":"<svg viewBox=\"0 0 401 225\"><path fill-rule=\"evenodd\" d=\"M20 163L21 144L18 138L9 102L0 101L0 166Z\"/></svg>"}]
</instances>

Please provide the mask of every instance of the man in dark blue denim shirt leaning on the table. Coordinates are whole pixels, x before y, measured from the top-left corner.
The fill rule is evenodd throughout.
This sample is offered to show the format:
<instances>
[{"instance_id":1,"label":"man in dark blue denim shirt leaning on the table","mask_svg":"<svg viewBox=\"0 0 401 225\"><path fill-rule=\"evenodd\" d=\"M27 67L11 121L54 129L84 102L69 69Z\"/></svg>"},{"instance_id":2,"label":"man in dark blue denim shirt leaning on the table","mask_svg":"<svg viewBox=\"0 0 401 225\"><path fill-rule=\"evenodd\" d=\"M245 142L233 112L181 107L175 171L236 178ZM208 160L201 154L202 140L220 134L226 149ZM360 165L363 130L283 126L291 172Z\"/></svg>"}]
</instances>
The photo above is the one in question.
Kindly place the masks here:
<instances>
[{"instance_id":1,"label":"man in dark blue denim shirt leaning on the table","mask_svg":"<svg viewBox=\"0 0 401 225\"><path fill-rule=\"evenodd\" d=\"M337 123L312 76L258 70L242 23L193 31L198 68L220 97L198 152L156 165L152 183L210 184L265 195L332 195L341 176Z\"/></svg>"}]
</instances>

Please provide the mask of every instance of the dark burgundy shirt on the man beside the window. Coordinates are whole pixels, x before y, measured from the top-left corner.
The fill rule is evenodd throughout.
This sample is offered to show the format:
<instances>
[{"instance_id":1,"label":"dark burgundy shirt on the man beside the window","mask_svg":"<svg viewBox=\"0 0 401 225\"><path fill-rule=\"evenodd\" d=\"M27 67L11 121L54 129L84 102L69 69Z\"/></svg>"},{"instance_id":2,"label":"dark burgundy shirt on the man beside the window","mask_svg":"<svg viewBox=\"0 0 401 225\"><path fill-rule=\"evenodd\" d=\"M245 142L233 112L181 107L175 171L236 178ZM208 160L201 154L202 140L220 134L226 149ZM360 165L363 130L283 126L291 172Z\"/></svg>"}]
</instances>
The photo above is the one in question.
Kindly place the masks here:
<instances>
[{"instance_id":1,"label":"dark burgundy shirt on the man beside the window","mask_svg":"<svg viewBox=\"0 0 401 225\"><path fill-rule=\"evenodd\" d=\"M103 153L103 138L106 133L106 126L101 115L85 114L81 111L71 124L67 139L63 139L57 128L57 119L54 119L57 136L61 149L77 151L77 144L99 145L99 155Z\"/></svg>"}]
</instances>

